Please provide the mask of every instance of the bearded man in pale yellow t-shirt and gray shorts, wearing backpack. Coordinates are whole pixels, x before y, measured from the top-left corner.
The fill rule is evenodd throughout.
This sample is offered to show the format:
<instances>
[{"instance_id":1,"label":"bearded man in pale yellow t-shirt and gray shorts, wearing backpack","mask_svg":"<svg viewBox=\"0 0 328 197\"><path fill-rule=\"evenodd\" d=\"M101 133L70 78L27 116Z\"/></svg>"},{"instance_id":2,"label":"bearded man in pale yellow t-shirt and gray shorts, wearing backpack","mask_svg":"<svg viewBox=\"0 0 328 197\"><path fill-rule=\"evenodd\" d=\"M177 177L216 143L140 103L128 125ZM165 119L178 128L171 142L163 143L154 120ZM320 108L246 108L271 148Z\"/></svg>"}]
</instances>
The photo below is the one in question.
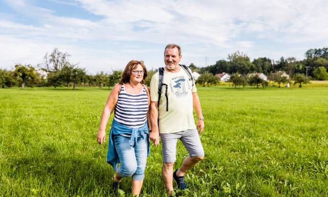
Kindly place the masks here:
<instances>
[{"instance_id":1,"label":"bearded man in pale yellow t-shirt and gray shorts, wearing backpack","mask_svg":"<svg viewBox=\"0 0 328 197\"><path fill-rule=\"evenodd\" d=\"M159 143L159 133L162 142L162 179L169 195L173 191L173 179L178 189L187 189L184 175L204 157L199 134L204 129L204 117L201 112L197 89L192 78L189 77L179 62L181 49L179 45L169 44L164 51L164 75L162 94L158 102L159 73L155 73L151 80L151 123L150 140ZM167 91L167 97L165 92ZM167 110L168 102L168 110ZM193 117L193 108L197 113L197 129ZM158 122L157 122L158 121ZM197 131L198 130L198 131ZM176 143L180 139L189 152L180 168L173 172L176 161Z\"/></svg>"}]
</instances>

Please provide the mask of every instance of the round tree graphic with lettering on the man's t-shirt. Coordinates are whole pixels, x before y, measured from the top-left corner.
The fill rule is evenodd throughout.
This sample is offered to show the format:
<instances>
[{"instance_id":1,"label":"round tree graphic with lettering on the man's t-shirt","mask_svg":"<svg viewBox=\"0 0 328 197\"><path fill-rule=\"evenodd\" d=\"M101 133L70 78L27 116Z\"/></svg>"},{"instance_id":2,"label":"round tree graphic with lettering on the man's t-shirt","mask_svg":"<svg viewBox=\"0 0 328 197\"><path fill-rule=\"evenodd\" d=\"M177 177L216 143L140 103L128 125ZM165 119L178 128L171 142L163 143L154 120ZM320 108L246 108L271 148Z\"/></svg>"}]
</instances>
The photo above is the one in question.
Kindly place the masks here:
<instances>
[{"instance_id":1,"label":"round tree graphic with lettering on the man's t-shirt","mask_svg":"<svg viewBox=\"0 0 328 197\"><path fill-rule=\"evenodd\" d=\"M189 80L183 75L171 78L170 88L178 98L186 97L191 90Z\"/></svg>"}]
</instances>

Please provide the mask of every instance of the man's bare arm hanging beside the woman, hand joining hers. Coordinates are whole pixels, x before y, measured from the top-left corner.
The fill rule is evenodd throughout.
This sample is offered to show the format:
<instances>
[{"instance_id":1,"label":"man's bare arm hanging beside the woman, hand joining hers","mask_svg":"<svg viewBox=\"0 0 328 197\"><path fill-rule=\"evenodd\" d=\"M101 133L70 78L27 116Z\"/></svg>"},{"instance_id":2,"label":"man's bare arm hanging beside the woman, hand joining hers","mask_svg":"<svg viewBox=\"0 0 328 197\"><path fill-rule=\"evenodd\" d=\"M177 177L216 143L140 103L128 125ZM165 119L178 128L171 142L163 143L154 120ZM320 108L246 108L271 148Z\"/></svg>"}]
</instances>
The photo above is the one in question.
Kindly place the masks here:
<instances>
[{"instance_id":1,"label":"man's bare arm hanging beside the woman, hand joining hers","mask_svg":"<svg viewBox=\"0 0 328 197\"><path fill-rule=\"evenodd\" d=\"M150 121L152 125L152 132L150 132L149 139L155 144L159 144L159 129L158 129L158 107L157 101L150 102Z\"/></svg>"}]
</instances>

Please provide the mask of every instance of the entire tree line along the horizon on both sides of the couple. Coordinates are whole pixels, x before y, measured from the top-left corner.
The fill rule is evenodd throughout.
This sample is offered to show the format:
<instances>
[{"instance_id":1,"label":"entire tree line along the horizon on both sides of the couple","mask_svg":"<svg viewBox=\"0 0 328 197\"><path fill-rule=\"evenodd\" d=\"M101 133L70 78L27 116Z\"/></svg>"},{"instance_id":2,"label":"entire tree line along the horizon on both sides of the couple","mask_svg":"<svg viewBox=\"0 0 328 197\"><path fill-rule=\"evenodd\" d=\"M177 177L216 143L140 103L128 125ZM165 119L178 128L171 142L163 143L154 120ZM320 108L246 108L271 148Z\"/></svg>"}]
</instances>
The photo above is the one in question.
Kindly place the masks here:
<instances>
[{"instance_id":1,"label":"entire tree line along the horizon on both sides of the couple","mask_svg":"<svg viewBox=\"0 0 328 197\"><path fill-rule=\"evenodd\" d=\"M86 68L69 61L67 52L55 48L51 53L46 53L44 61L36 67L32 65L16 64L14 70L0 69L0 86L2 88L20 86L67 86L76 89L77 86L114 86L120 79L122 71L113 70L111 74L100 71L95 75L87 74ZM270 75L269 80L279 84L288 83L289 79L279 74L286 72L293 77L295 83L307 83L310 79L328 80L328 48L309 49L304 54L304 60L297 61L295 57L274 61L268 57L259 57L251 61L250 57L239 51L229 54L228 61L219 60L214 65L197 67L189 65L192 71L200 73L196 83L205 86L218 84L217 73L231 73L230 82L236 86L256 85L265 87L267 84L256 74ZM146 85L150 85L151 76L156 70L149 70ZM306 75L306 76L305 76ZM310 78L308 78L309 76ZM261 81L262 80L262 81Z\"/></svg>"}]
</instances>

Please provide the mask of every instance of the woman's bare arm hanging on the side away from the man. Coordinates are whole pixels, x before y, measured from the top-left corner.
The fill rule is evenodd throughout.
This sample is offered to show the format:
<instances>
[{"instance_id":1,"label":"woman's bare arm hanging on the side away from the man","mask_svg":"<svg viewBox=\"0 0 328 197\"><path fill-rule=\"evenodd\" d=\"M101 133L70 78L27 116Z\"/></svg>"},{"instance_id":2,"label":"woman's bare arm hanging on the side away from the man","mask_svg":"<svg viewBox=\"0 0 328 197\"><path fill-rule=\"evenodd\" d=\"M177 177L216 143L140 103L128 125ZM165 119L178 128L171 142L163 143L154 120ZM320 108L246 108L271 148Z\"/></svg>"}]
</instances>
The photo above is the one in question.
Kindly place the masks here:
<instances>
[{"instance_id":1,"label":"woman's bare arm hanging on the side away from the man","mask_svg":"<svg viewBox=\"0 0 328 197\"><path fill-rule=\"evenodd\" d=\"M117 103L117 98L118 98L118 92L120 89L121 85L116 84L112 91L110 92L107 102L105 104L103 113L101 114L101 120L100 120L100 125L97 133L97 141L101 145L106 139L106 126L107 122L109 119L109 116L114 110L114 107Z\"/></svg>"}]
</instances>

